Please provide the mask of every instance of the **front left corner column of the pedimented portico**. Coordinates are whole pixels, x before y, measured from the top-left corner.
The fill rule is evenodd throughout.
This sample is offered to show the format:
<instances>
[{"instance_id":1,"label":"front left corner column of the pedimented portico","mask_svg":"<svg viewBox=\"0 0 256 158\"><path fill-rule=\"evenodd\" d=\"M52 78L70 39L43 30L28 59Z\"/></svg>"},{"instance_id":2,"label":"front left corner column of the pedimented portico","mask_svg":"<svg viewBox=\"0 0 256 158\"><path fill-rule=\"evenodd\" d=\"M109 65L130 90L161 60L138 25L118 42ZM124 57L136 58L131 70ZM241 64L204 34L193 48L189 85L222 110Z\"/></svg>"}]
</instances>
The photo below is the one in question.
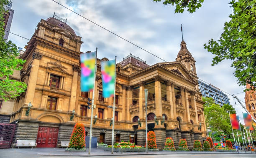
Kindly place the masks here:
<instances>
[{"instance_id":1,"label":"front left corner column of the pedimented portico","mask_svg":"<svg viewBox=\"0 0 256 158\"><path fill-rule=\"evenodd\" d=\"M161 83L160 76L155 77L155 104L156 104L156 117L162 118L162 96L161 96Z\"/></svg>"}]
</instances>

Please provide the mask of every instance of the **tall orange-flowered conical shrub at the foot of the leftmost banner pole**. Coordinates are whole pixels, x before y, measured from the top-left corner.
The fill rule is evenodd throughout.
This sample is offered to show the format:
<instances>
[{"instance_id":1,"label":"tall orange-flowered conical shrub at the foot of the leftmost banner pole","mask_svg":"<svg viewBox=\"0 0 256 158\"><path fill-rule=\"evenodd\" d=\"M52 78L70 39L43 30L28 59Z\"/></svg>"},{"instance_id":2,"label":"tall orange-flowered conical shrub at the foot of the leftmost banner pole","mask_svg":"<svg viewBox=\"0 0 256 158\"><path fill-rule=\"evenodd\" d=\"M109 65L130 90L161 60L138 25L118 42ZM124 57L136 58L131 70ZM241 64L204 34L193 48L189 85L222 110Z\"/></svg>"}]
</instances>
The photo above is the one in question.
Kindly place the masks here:
<instances>
[{"instance_id":1,"label":"tall orange-flowered conical shrub at the foot of the leftmost banner pole","mask_svg":"<svg viewBox=\"0 0 256 158\"><path fill-rule=\"evenodd\" d=\"M82 123L77 123L71 134L69 148L74 149L82 149L85 147L85 139L84 139L85 131L84 125Z\"/></svg>"}]
</instances>

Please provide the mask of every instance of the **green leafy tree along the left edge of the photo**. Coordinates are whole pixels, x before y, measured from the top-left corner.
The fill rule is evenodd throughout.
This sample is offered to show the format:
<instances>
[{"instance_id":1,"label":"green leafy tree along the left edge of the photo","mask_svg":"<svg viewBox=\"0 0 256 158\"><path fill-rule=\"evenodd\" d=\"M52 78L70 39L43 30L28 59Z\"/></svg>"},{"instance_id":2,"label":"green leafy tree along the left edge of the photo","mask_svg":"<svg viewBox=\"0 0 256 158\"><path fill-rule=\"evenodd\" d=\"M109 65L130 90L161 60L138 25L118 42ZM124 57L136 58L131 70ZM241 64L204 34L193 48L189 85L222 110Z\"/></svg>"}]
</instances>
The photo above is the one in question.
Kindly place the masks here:
<instances>
[{"instance_id":1,"label":"green leafy tree along the left edge of the photo","mask_svg":"<svg viewBox=\"0 0 256 158\"><path fill-rule=\"evenodd\" d=\"M20 70L25 60L19 59L17 46L4 37L4 18L6 12L4 5L10 3L8 0L0 0L0 98L4 100L14 99L25 92L27 85L18 80L13 80L13 70Z\"/></svg>"}]
</instances>

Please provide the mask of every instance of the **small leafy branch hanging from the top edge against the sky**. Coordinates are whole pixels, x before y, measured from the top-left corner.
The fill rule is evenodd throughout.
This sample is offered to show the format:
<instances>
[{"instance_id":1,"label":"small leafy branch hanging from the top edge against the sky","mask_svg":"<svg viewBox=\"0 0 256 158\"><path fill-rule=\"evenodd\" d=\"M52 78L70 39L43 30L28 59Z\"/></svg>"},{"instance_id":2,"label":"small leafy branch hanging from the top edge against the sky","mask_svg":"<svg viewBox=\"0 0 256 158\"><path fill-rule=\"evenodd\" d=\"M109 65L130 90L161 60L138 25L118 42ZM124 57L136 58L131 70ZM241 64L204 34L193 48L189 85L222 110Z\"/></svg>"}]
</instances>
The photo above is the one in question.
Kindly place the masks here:
<instances>
[{"instance_id":1,"label":"small leafy branch hanging from the top edge against the sky","mask_svg":"<svg viewBox=\"0 0 256 158\"><path fill-rule=\"evenodd\" d=\"M154 2L161 2L161 0L153 0ZM196 9L202 7L204 0L163 0L163 5L175 5L175 13L183 13L187 8L189 13L195 12Z\"/></svg>"}]
</instances>

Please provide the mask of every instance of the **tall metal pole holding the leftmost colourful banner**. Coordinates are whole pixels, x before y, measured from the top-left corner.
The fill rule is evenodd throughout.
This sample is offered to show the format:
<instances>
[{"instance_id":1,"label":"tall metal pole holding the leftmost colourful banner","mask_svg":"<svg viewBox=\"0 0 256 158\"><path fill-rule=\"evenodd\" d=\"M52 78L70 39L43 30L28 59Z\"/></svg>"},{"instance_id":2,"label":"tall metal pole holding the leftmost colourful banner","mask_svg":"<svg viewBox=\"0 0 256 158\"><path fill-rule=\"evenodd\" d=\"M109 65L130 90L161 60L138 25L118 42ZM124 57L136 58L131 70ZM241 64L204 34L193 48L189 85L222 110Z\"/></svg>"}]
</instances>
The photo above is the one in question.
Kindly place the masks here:
<instances>
[{"instance_id":1,"label":"tall metal pole holding the leftmost colourful banner","mask_svg":"<svg viewBox=\"0 0 256 158\"><path fill-rule=\"evenodd\" d=\"M96 48L96 58L95 58L95 72L94 72L94 81L93 81L93 93L92 93L92 113L91 113L91 125L90 125L90 140L89 140L89 151L88 154L91 154L91 144L92 144L92 119L93 119L93 108L94 108L94 96L95 96L95 79L97 71L97 50Z\"/></svg>"}]
</instances>

